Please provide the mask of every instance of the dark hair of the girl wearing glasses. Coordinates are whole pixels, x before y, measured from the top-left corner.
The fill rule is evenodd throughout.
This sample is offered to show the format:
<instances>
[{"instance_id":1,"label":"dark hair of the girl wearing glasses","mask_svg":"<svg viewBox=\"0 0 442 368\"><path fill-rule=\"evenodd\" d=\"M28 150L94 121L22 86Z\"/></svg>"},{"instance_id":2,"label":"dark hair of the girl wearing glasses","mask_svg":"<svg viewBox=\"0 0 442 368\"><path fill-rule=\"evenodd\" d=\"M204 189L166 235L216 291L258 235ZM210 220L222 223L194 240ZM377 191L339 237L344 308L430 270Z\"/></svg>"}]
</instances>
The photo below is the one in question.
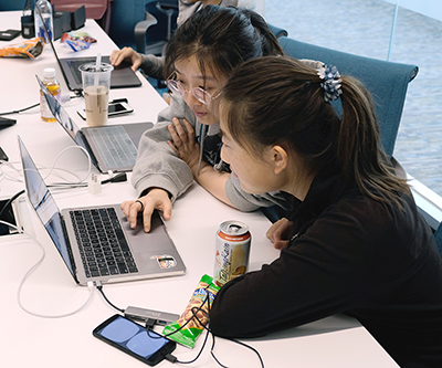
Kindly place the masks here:
<instances>
[{"instance_id":1,"label":"dark hair of the girl wearing glasses","mask_svg":"<svg viewBox=\"0 0 442 368\"><path fill-rule=\"evenodd\" d=\"M206 6L183 22L166 48L165 75L176 61L196 56L206 75L229 77L243 62L283 51L264 19L249 9Z\"/></svg>"}]
</instances>

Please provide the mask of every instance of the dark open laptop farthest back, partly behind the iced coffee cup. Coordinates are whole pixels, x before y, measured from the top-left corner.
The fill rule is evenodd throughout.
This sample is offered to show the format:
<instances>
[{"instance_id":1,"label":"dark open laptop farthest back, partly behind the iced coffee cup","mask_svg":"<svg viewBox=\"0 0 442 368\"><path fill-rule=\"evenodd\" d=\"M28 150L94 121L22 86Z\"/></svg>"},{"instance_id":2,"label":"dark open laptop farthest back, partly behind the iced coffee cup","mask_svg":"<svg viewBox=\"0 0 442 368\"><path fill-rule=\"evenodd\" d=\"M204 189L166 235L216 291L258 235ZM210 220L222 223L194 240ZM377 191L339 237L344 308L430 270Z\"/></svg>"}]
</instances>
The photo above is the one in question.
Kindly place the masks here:
<instances>
[{"instance_id":1,"label":"dark open laptop farthest back, partly behind the iced coffee cup","mask_svg":"<svg viewBox=\"0 0 442 368\"><path fill-rule=\"evenodd\" d=\"M35 7L35 10L41 17L40 8ZM38 15L39 15L38 14ZM46 29L45 22L42 22L43 27ZM46 34L48 34L46 29ZM67 87L71 91L82 91L82 73L78 70L78 66L86 63L95 62L95 57L62 57L60 59L56 50L54 48L54 43L51 38L49 38L52 50L54 51L54 55L56 62L62 70L64 80L66 82ZM103 56L102 62L109 63L109 56ZM118 66L114 66L114 70L110 73L110 88L124 88L124 87L138 87L141 85L138 76L130 69L130 63L123 62Z\"/></svg>"}]
</instances>

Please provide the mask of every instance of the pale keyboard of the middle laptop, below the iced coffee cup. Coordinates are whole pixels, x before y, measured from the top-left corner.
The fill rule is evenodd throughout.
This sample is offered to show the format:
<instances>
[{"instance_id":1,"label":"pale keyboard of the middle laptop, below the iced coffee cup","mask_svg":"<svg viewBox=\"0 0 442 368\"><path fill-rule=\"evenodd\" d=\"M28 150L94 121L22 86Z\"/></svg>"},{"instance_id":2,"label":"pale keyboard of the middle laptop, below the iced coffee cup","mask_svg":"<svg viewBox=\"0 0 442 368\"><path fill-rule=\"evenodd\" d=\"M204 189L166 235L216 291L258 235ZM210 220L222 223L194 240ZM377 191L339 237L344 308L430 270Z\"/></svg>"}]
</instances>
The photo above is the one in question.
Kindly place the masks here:
<instances>
[{"instance_id":1,"label":"pale keyboard of the middle laptop, below the iced coffee cup","mask_svg":"<svg viewBox=\"0 0 442 368\"><path fill-rule=\"evenodd\" d=\"M137 148L122 126L88 128L91 138L107 168L133 167L137 159Z\"/></svg>"}]
</instances>

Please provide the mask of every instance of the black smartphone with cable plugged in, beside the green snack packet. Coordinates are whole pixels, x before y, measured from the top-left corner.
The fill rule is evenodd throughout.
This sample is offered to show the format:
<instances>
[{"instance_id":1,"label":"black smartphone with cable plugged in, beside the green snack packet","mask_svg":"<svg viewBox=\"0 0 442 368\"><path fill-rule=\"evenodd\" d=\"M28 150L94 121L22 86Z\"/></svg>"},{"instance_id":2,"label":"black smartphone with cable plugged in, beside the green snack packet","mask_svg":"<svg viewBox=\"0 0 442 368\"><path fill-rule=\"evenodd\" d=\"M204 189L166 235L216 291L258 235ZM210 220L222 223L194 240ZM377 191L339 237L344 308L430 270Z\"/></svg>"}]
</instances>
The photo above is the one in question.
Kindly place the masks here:
<instances>
[{"instance_id":1,"label":"black smartphone with cable plugged in, beside the green snack packet","mask_svg":"<svg viewBox=\"0 0 442 368\"><path fill-rule=\"evenodd\" d=\"M149 366L160 362L177 346L175 341L118 314L106 319L92 334Z\"/></svg>"}]
</instances>

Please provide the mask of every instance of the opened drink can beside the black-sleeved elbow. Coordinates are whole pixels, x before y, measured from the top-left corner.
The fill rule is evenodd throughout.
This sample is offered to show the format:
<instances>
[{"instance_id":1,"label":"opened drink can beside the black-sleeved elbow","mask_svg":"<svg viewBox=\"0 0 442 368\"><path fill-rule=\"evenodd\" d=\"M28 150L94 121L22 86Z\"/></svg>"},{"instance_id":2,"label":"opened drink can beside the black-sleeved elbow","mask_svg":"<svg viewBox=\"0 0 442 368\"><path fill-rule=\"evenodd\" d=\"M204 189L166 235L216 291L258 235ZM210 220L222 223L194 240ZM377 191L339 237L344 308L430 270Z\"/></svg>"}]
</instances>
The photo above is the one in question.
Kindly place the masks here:
<instances>
[{"instance_id":1,"label":"opened drink can beside the black-sleeved elbow","mask_svg":"<svg viewBox=\"0 0 442 368\"><path fill-rule=\"evenodd\" d=\"M240 221L225 221L217 231L214 282L222 286L244 274L249 267L252 236L249 227Z\"/></svg>"}]
</instances>

